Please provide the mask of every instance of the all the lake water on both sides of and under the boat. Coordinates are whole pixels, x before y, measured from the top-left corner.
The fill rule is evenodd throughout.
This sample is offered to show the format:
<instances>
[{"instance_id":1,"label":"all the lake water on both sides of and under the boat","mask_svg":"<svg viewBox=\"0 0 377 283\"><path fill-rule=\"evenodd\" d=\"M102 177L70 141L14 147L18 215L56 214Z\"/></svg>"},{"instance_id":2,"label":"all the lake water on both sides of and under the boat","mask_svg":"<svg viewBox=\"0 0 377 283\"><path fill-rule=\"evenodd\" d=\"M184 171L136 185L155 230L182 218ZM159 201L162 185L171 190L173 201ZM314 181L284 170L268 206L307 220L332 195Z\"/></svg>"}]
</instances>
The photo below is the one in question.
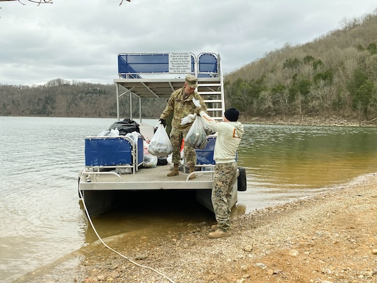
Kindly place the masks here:
<instances>
[{"instance_id":1,"label":"all the lake water on both sides of and under the boat","mask_svg":"<svg viewBox=\"0 0 377 283\"><path fill-rule=\"evenodd\" d=\"M84 137L103 132L112 122L115 119L0 117L0 282L13 282L96 240L79 202L77 180L84 166ZM143 122L156 125L156 120ZM331 190L377 172L375 127L245 125L245 131L238 165L246 168L248 190L238 193L238 213ZM93 221L106 237L152 230L161 235L182 229L177 223L213 219L199 207L166 204L158 212L149 207L140 200L127 212Z\"/></svg>"}]
</instances>

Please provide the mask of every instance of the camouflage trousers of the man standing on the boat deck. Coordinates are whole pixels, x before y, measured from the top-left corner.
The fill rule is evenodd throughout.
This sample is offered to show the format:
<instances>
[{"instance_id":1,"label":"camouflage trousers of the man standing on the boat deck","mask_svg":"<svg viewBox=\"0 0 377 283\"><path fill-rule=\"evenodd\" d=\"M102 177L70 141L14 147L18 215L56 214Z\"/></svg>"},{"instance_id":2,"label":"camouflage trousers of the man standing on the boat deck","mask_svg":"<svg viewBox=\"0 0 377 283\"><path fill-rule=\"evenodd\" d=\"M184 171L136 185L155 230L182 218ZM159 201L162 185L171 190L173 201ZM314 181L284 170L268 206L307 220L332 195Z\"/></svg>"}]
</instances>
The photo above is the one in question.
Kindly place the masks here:
<instances>
[{"instance_id":1,"label":"camouflage trousers of the man standing on the boat deck","mask_svg":"<svg viewBox=\"0 0 377 283\"><path fill-rule=\"evenodd\" d=\"M182 146L182 139L186 138L189 129L190 127L187 127L187 129L184 129L183 131L179 131L175 128L171 129L170 141L173 145L173 164L180 164L180 148ZM195 152L195 149L185 144L184 152L186 166L195 166L197 164L197 153Z\"/></svg>"}]
</instances>

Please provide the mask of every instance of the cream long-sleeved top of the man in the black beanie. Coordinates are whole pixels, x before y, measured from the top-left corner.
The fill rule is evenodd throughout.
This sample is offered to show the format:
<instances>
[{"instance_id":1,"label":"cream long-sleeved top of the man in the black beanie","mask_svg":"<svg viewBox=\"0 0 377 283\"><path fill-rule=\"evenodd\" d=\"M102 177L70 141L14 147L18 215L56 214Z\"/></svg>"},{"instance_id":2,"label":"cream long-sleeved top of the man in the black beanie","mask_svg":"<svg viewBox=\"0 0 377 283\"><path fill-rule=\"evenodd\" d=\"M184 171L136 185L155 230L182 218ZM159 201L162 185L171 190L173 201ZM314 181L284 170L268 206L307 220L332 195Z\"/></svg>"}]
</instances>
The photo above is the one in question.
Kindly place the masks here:
<instances>
[{"instance_id":1,"label":"cream long-sleeved top of the man in the black beanie","mask_svg":"<svg viewBox=\"0 0 377 283\"><path fill-rule=\"evenodd\" d=\"M236 161L236 153L243 136L243 125L240 122L216 122L203 110L200 111L211 129L217 132L214 148L214 161L216 163L230 163Z\"/></svg>"}]
</instances>

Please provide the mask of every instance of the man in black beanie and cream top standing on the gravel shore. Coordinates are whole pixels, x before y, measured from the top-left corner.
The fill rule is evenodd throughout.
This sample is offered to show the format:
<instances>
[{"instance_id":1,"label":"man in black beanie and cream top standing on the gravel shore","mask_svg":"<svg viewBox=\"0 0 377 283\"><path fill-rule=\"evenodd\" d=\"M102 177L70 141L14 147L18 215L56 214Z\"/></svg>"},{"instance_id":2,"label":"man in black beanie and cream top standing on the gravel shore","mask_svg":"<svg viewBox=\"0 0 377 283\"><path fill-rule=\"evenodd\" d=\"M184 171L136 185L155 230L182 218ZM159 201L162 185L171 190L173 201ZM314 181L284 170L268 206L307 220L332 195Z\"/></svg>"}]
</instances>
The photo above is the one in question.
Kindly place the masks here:
<instances>
[{"instance_id":1,"label":"man in black beanie and cream top standing on the gravel shore","mask_svg":"<svg viewBox=\"0 0 377 283\"><path fill-rule=\"evenodd\" d=\"M236 153L243 136L243 125L237 122L239 112L236 108L228 108L224 112L224 122L216 122L201 108L195 110L203 117L204 122L217 132L214 148L214 183L212 187L212 205L217 224L211 228L209 238L230 236L231 199L233 185L237 180Z\"/></svg>"}]
</instances>

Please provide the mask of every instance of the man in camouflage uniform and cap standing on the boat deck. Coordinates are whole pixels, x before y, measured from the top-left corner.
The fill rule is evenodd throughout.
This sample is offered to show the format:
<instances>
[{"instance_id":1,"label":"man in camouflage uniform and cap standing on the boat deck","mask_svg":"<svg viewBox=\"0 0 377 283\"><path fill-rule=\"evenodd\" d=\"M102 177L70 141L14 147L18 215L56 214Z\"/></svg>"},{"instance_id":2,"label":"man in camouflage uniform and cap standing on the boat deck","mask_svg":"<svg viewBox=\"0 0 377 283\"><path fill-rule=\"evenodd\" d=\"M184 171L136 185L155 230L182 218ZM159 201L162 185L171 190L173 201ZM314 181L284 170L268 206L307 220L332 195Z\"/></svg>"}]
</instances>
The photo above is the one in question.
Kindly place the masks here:
<instances>
[{"instance_id":1,"label":"man in camouflage uniform and cap standing on the boat deck","mask_svg":"<svg viewBox=\"0 0 377 283\"><path fill-rule=\"evenodd\" d=\"M202 110L207 112L207 106L204 104L202 96L195 91L197 88L197 77L193 75L187 75L185 77L185 86L174 91L166 104L165 110L161 113L160 122L166 125L166 118L173 113L173 119L171 121L170 141L173 144L173 158L172 162L174 168L168 176L179 175L178 166L180 163L180 149L182 146L182 139L185 139L187 132L189 131L192 123L186 125L180 125L181 119L189 114L195 112L196 106L192 103L192 98L199 100ZM189 174L195 171L195 165L197 163L197 154L195 149L185 144L185 161L189 166ZM190 175L190 179L195 178L195 174Z\"/></svg>"}]
</instances>

